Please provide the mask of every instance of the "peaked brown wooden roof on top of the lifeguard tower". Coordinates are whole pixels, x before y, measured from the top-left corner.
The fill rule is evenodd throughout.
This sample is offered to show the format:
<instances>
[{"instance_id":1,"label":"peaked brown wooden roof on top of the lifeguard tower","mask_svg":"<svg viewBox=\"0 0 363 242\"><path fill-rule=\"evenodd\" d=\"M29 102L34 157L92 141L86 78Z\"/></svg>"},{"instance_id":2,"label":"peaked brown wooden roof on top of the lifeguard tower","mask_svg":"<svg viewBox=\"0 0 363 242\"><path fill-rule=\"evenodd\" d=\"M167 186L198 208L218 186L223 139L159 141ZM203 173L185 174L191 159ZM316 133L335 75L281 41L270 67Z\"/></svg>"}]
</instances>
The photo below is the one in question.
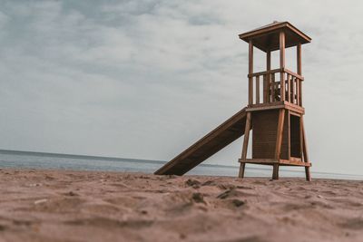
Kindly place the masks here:
<instances>
[{"instance_id":1,"label":"peaked brown wooden roof on top of the lifeguard tower","mask_svg":"<svg viewBox=\"0 0 363 242\"><path fill-rule=\"evenodd\" d=\"M289 22L274 21L272 24L264 25L239 36L247 43L252 40L252 44L261 51L269 52L280 49L280 31L285 33L286 48L311 42L311 38L307 34L302 33Z\"/></svg>"}]
</instances>

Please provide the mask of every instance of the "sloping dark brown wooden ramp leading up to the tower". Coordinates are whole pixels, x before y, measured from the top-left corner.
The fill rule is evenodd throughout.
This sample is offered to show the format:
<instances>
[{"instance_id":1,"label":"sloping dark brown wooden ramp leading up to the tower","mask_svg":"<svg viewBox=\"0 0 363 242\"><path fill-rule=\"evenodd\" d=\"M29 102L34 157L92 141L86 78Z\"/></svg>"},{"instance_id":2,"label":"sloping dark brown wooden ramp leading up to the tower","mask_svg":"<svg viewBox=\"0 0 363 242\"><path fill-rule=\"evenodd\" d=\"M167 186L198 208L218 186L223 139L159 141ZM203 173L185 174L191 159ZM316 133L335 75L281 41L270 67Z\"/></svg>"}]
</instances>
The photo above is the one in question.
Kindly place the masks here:
<instances>
[{"instance_id":1,"label":"sloping dark brown wooden ramp leading up to the tower","mask_svg":"<svg viewBox=\"0 0 363 242\"><path fill-rule=\"evenodd\" d=\"M155 175L183 175L244 134L246 108L234 114L187 150L166 163Z\"/></svg>"}]
</instances>

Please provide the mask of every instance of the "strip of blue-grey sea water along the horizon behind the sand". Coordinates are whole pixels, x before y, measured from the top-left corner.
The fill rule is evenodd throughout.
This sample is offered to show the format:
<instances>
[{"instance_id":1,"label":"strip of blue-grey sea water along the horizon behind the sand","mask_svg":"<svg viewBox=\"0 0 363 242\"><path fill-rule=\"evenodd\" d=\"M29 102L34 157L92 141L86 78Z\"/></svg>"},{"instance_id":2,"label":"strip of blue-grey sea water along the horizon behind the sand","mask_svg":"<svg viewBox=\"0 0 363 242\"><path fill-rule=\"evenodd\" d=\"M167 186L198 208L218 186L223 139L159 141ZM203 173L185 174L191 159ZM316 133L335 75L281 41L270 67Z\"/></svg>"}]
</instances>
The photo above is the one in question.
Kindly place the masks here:
<instances>
[{"instance_id":1,"label":"strip of blue-grey sea water along the horizon behind the sand","mask_svg":"<svg viewBox=\"0 0 363 242\"><path fill-rule=\"evenodd\" d=\"M166 161L162 160L135 160L113 157L95 157L70 154L56 154L44 152L29 152L18 150L0 150L0 169L75 169L75 170L103 170L153 173L162 167ZM187 174L208 176L238 175L238 166L223 166L200 164ZM270 177L270 167L250 167L245 170L246 177ZM312 178L323 179L363 179L360 175L311 172ZM280 168L280 177L305 177L303 168Z\"/></svg>"}]
</instances>

